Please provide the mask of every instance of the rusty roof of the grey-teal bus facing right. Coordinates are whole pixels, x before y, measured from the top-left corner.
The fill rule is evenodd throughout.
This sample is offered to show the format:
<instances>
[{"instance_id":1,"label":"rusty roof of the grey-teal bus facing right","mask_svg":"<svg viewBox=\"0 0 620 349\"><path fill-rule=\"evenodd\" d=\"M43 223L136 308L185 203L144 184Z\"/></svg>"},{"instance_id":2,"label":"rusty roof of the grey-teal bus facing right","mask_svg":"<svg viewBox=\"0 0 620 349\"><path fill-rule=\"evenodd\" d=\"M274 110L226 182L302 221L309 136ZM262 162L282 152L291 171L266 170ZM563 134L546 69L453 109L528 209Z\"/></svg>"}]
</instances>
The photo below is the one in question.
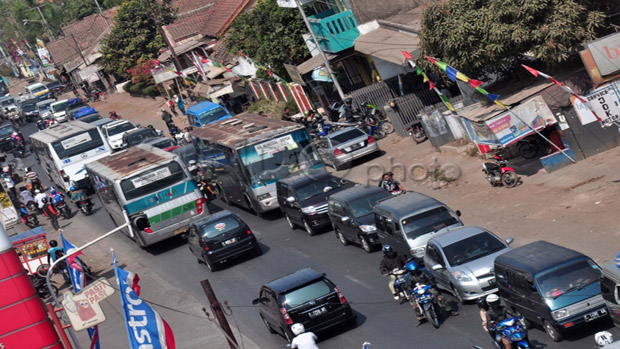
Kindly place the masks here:
<instances>
[{"instance_id":1,"label":"rusty roof of the grey-teal bus facing right","mask_svg":"<svg viewBox=\"0 0 620 349\"><path fill-rule=\"evenodd\" d=\"M302 128L303 126L293 122L243 113L196 128L192 131L192 135L237 149L261 142L269 136L277 136Z\"/></svg>"}]
</instances>

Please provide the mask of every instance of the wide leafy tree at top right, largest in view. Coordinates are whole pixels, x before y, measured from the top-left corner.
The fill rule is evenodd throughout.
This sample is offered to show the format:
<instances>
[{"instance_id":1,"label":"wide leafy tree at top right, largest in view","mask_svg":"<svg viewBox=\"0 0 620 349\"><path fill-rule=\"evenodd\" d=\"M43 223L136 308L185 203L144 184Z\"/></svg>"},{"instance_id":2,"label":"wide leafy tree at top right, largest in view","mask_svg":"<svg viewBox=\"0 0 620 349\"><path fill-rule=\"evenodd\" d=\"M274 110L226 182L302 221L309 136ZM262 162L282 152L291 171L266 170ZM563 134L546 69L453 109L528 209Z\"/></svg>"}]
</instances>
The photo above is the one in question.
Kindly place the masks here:
<instances>
[{"instance_id":1,"label":"wide leafy tree at top right, largest in view","mask_svg":"<svg viewBox=\"0 0 620 349\"><path fill-rule=\"evenodd\" d=\"M528 53L549 67L611 29L614 0L448 0L423 14L422 49L470 77L506 73ZM428 62L420 63L427 65Z\"/></svg>"}]
</instances>

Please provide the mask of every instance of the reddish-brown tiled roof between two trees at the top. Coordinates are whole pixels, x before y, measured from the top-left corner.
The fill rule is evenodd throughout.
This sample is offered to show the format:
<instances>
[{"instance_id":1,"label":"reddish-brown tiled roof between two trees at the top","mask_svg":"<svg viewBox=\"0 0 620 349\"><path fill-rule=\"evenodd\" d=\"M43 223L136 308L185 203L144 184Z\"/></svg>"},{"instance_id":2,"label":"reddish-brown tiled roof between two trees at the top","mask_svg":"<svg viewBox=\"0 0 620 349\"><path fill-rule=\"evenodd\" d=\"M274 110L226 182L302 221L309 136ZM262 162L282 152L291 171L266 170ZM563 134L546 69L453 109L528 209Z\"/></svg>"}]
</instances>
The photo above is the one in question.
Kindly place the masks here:
<instances>
[{"instance_id":1,"label":"reddish-brown tiled roof between two trees at the top","mask_svg":"<svg viewBox=\"0 0 620 349\"><path fill-rule=\"evenodd\" d=\"M219 36L250 0L179 0L173 6L183 5L186 15L165 26L168 37L178 42L194 35ZM206 6L213 3L212 6ZM200 5L202 4L202 5Z\"/></svg>"}]
</instances>

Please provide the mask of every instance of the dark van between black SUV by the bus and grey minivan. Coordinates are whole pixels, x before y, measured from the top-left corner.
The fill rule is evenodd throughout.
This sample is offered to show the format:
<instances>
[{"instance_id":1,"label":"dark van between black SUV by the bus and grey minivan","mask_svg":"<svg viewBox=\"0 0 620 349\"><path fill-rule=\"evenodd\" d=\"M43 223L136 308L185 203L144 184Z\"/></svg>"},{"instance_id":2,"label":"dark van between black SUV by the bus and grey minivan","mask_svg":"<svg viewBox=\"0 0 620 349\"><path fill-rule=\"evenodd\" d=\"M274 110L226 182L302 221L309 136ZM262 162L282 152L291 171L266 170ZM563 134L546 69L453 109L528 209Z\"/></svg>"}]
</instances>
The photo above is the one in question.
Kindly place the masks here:
<instances>
[{"instance_id":1,"label":"dark van between black SUV by the bus and grey minivan","mask_svg":"<svg viewBox=\"0 0 620 349\"><path fill-rule=\"evenodd\" d=\"M338 240L345 246L359 243L368 253L381 246L372 208L391 195L379 187L360 185L330 196L328 214Z\"/></svg>"}]
</instances>

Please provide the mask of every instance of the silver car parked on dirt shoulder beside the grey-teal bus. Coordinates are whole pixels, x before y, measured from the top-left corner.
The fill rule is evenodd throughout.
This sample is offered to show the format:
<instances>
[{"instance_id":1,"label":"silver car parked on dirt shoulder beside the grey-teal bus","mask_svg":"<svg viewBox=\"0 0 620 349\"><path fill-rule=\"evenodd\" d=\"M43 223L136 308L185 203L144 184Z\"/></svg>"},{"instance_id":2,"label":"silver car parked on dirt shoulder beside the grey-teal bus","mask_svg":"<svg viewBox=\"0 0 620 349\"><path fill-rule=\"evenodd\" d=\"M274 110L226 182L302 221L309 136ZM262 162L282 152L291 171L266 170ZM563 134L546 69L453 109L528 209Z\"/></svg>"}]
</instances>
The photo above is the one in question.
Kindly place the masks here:
<instances>
[{"instance_id":1,"label":"silver car parked on dirt shoulder beside the grey-teal bus","mask_svg":"<svg viewBox=\"0 0 620 349\"><path fill-rule=\"evenodd\" d=\"M379 151L375 139L355 127L330 133L318 140L316 145L323 162L336 170L355 159Z\"/></svg>"}]
</instances>

